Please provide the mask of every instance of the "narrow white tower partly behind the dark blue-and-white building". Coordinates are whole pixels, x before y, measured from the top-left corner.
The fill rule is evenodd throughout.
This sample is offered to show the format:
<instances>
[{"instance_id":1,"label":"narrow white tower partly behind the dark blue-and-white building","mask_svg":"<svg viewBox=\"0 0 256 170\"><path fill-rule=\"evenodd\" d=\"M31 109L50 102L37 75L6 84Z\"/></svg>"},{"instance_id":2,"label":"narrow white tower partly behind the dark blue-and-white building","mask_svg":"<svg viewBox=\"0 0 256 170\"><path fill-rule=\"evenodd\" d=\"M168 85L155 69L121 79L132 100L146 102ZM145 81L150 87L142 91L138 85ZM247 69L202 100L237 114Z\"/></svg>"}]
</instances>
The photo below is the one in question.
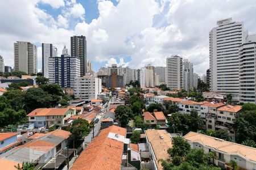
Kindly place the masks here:
<instances>
[{"instance_id":1,"label":"narrow white tower partly behind the dark blue-and-white building","mask_svg":"<svg viewBox=\"0 0 256 170\"><path fill-rule=\"evenodd\" d=\"M57 57L57 48L52 44L42 43L42 70L46 78L49 78L49 57Z\"/></svg>"}]
</instances>

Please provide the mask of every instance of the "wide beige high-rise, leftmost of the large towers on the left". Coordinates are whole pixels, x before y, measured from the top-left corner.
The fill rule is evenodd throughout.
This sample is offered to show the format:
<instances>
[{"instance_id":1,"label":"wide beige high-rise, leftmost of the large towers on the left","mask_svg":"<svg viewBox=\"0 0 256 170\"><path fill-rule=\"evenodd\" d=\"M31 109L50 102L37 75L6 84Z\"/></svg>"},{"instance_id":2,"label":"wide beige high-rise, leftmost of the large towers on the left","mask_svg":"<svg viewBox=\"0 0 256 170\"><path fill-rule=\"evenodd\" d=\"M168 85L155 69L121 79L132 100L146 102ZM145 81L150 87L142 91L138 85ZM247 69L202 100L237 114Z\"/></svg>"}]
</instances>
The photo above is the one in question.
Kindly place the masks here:
<instances>
[{"instance_id":1,"label":"wide beige high-rise, leftmost of the large towers on the left","mask_svg":"<svg viewBox=\"0 0 256 170\"><path fill-rule=\"evenodd\" d=\"M38 53L36 46L30 42L14 42L14 70L27 74L37 73Z\"/></svg>"}]
</instances>

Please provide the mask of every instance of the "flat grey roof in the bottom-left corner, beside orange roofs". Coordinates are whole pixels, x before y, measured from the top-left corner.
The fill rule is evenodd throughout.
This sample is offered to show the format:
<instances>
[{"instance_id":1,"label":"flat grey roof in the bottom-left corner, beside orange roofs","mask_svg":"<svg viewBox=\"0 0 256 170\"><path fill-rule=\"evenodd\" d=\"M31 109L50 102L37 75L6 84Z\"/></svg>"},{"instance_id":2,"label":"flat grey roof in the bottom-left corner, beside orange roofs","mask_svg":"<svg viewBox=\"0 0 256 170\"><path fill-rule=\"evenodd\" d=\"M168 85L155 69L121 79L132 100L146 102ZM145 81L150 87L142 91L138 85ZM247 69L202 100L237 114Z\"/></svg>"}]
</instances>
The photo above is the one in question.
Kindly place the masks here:
<instances>
[{"instance_id":1,"label":"flat grey roof in the bottom-left corner, beside orange roofs","mask_svg":"<svg viewBox=\"0 0 256 170\"><path fill-rule=\"evenodd\" d=\"M20 147L1 154L0 158L22 163L38 160L42 155L44 155L42 151L33 150L28 147Z\"/></svg>"}]
</instances>

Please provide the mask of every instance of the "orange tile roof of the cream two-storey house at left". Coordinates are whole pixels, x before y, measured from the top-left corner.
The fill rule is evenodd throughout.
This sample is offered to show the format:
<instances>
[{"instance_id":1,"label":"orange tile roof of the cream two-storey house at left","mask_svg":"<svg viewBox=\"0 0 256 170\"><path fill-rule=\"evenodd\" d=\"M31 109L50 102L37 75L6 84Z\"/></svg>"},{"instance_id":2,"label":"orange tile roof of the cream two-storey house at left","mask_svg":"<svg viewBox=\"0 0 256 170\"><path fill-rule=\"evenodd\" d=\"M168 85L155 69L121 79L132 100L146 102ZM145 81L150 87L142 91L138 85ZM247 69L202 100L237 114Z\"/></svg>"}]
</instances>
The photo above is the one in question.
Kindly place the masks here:
<instances>
[{"instance_id":1,"label":"orange tile roof of the cream two-storey house at left","mask_svg":"<svg viewBox=\"0 0 256 170\"><path fill-rule=\"evenodd\" d=\"M39 108L27 114L27 116L56 116L65 115L71 108Z\"/></svg>"}]
</instances>

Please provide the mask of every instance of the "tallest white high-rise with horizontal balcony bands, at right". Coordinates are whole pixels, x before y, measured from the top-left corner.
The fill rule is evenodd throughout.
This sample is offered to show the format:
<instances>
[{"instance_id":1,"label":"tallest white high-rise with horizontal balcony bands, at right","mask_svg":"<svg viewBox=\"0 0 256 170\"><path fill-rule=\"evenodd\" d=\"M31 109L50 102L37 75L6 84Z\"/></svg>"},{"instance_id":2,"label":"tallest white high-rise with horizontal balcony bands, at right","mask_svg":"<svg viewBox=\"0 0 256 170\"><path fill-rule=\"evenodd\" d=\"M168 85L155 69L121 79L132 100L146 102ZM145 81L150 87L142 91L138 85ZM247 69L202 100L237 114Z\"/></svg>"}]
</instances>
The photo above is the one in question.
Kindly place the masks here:
<instances>
[{"instance_id":1,"label":"tallest white high-rise with horizontal balcony bands, at right","mask_svg":"<svg viewBox=\"0 0 256 170\"><path fill-rule=\"evenodd\" d=\"M232 18L219 20L209 33L211 91L232 94L234 101L239 100L238 49L245 37L243 23Z\"/></svg>"}]
</instances>

